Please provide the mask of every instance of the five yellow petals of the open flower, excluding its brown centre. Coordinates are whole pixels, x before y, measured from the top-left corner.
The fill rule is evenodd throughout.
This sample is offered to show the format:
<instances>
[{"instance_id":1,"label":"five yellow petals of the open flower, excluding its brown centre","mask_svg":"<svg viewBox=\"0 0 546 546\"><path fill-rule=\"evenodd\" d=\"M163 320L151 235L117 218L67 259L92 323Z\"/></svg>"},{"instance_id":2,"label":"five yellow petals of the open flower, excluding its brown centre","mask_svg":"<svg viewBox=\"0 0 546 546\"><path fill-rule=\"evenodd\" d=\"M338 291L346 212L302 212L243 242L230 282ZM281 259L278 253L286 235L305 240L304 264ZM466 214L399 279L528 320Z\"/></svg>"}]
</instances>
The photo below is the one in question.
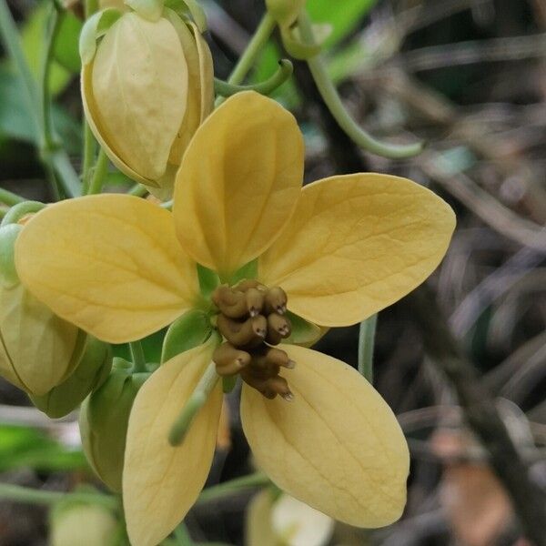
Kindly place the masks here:
<instances>
[{"instance_id":1,"label":"five yellow petals of the open flower, excluding its brown centre","mask_svg":"<svg viewBox=\"0 0 546 546\"><path fill-rule=\"evenodd\" d=\"M139 339L202 305L197 263L233 285L239 268L256 258L259 282L283 288L292 312L325 327L354 324L430 275L449 245L454 215L428 189L399 177L330 177L302 189L303 158L294 117L268 98L240 93L187 147L173 213L120 195L61 202L25 228L17 270L61 317L111 342ZM217 315L224 333L220 319L228 323L224 311ZM172 447L167 436L217 354L214 339L167 361L136 397L123 479L135 546L165 538L207 478L219 384L182 445ZM297 362L286 372L289 389L275 374L261 391L293 395L291 403L265 398L256 378L243 376L241 416L258 466L339 521L378 527L398 519L409 454L388 405L343 362L280 347L288 368Z\"/></svg>"}]
</instances>

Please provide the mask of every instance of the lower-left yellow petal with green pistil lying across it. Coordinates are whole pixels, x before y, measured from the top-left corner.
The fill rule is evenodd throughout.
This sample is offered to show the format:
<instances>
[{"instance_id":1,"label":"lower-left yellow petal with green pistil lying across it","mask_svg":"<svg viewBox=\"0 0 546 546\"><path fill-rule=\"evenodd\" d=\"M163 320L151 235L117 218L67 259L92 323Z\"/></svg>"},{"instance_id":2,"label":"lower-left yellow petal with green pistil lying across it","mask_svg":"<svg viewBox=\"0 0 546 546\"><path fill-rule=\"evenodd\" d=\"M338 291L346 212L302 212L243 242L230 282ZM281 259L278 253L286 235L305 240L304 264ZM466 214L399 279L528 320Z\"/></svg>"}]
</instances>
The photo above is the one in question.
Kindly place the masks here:
<instances>
[{"instance_id":1,"label":"lower-left yellow petal with green pistil lying across it","mask_svg":"<svg viewBox=\"0 0 546 546\"><path fill-rule=\"evenodd\" d=\"M218 382L206 405L173 448L172 424L207 368L211 343L163 364L139 390L127 430L123 500L133 546L156 546L186 516L207 480L222 408Z\"/></svg>"}]
</instances>

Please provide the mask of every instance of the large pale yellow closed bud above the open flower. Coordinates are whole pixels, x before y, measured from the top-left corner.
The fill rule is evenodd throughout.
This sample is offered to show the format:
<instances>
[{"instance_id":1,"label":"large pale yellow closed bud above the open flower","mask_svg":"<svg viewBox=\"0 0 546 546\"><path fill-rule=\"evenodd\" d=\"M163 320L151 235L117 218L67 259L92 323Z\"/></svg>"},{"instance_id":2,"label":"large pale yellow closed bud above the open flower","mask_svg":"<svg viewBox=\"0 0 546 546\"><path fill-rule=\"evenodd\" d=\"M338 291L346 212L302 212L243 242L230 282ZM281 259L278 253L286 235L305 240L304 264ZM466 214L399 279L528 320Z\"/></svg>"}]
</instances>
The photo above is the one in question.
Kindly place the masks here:
<instances>
[{"instance_id":1,"label":"large pale yellow closed bud above the open flower","mask_svg":"<svg viewBox=\"0 0 546 546\"><path fill-rule=\"evenodd\" d=\"M212 56L197 26L172 10L156 21L128 12L84 66L82 96L116 167L169 198L187 144L213 107Z\"/></svg>"}]
</instances>

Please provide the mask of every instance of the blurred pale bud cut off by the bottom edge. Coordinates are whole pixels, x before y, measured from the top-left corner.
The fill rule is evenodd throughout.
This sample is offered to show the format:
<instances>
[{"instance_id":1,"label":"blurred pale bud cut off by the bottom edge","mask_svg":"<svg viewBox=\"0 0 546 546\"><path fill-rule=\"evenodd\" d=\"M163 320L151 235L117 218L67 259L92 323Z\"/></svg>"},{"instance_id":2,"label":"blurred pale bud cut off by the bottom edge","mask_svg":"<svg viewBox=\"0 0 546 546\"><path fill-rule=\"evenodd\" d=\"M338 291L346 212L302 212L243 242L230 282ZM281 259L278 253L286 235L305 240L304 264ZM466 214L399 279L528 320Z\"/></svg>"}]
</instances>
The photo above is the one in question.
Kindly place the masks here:
<instances>
[{"instance_id":1,"label":"blurred pale bud cut off by the bottom edge","mask_svg":"<svg viewBox=\"0 0 546 546\"><path fill-rule=\"evenodd\" d=\"M119 523L111 511L97 504L62 503L51 514L51 546L114 544Z\"/></svg>"}]
</instances>

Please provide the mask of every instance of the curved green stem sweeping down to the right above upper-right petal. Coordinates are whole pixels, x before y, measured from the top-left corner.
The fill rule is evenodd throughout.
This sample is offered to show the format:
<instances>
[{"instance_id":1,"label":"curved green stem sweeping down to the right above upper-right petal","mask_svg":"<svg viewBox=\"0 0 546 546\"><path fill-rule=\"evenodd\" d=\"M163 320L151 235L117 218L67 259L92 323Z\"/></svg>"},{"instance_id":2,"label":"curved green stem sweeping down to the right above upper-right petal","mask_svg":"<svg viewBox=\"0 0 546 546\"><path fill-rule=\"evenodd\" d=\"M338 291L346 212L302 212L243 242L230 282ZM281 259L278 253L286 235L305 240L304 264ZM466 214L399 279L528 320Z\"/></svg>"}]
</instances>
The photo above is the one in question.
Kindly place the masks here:
<instances>
[{"instance_id":1,"label":"curved green stem sweeping down to the right above upper-right petal","mask_svg":"<svg viewBox=\"0 0 546 546\"><path fill-rule=\"evenodd\" d=\"M298 26L301 32L301 37L311 45L316 44L313 27L309 21L305 10L302 10L298 16ZM368 150L372 154L391 159L401 159L405 157L413 157L420 154L424 144L418 142L407 146L397 146L380 142L373 136L369 135L362 129L355 120L350 116L347 108L343 105L343 101L338 94L336 86L329 78L328 70L322 56L312 56L307 61L309 70L313 75L313 79L319 88L320 96L326 103L332 116L336 119L339 126L345 131L347 136L351 138L359 147Z\"/></svg>"}]
</instances>

